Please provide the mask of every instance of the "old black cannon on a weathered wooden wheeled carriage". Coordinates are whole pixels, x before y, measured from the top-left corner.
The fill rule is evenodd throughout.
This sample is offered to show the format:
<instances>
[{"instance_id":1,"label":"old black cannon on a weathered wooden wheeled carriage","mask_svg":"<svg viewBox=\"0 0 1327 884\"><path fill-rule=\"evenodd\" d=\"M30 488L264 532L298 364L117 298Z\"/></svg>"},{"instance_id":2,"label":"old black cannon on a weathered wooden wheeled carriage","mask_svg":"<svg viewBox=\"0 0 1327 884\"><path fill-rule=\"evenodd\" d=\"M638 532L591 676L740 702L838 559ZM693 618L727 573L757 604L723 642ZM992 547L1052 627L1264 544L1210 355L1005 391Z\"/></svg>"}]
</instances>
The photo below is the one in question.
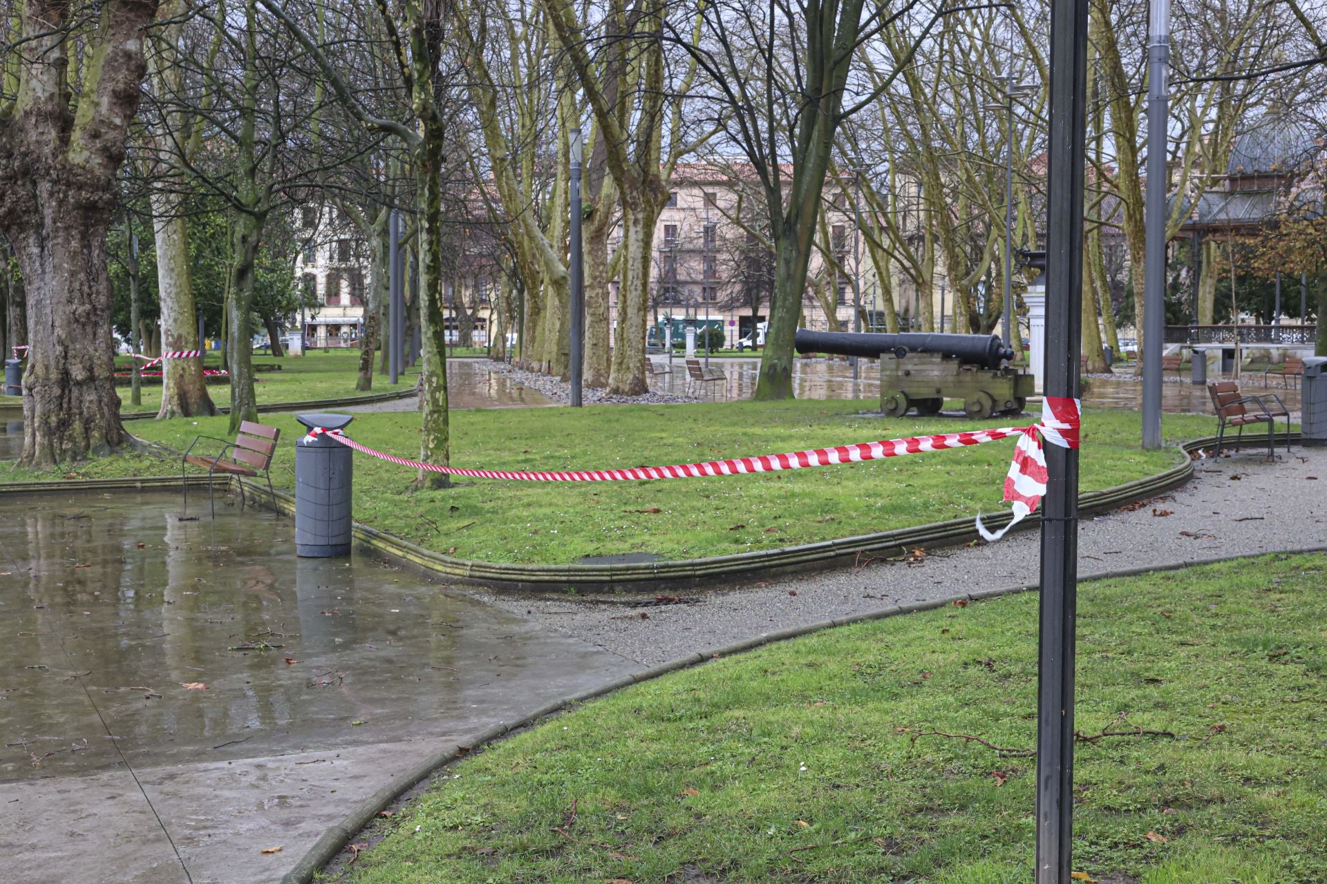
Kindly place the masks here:
<instances>
[{"instance_id":1,"label":"old black cannon on a weathered wooden wheeled carriage","mask_svg":"<svg viewBox=\"0 0 1327 884\"><path fill-rule=\"evenodd\" d=\"M1013 368L1014 351L986 334L859 334L799 329L798 353L880 359L880 410L901 417L940 414L945 399L962 399L969 417L1016 415L1035 391L1032 375Z\"/></svg>"}]
</instances>

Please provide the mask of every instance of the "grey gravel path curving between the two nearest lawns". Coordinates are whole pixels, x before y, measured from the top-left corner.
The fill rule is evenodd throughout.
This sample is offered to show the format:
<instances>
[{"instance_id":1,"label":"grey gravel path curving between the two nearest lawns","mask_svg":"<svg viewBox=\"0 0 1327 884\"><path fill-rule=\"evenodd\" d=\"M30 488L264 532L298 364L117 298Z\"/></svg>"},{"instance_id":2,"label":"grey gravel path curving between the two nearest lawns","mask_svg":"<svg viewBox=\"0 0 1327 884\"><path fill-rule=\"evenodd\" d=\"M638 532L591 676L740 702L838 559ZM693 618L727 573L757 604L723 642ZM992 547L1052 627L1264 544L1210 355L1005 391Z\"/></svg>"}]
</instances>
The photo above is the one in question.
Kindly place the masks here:
<instances>
[{"instance_id":1,"label":"grey gravel path curving between the two nearest lawns","mask_svg":"<svg viewBox=\"0 0 1327 884\"><path fill-rule=\"evenodd\" d=\"M1295 447L1287 455L1282 448L1274 464L1257 449L1245 449L1202 460L1196 468L1193 480L1170 494L1084 518L1079 530L1080 577L1327 545L1327 449ZM859 527L869 530L867 525ZM904 558L905 551L896 555ZM656 665L762 632L1023 584L1035 579L1038 555L1039 531L1028 530L998 543L906 554L906 561L877 561L733 590L693 591L687 595L697 600L685 604L622 604L649 600L649 595L475 595ZM641 619L641 612L648 619Z\"/></svg>"}]
</instances>

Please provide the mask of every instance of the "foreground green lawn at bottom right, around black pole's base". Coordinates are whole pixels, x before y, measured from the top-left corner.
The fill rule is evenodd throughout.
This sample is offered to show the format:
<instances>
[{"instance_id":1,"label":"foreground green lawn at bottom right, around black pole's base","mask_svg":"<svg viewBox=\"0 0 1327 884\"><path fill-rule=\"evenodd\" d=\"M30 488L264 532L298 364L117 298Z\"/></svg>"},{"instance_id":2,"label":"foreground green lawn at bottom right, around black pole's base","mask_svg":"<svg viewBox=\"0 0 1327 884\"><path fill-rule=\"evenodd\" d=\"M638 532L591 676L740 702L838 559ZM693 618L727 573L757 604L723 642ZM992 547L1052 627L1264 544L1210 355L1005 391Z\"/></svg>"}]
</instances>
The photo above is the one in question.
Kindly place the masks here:
<instances>
[{"instance_id":1,"label":"foreground green lawn at bottom right, around black pole's base","mask_svg":"<svg viewBox=\"0 0 1327 884\"><path fill-rule=\"evenodd\" d=\"M1078 745L1083 880L1327 880L1324 569L1082 587L1079 729L1174 734ZM591 702L445 770L346 877L1028 881L1035 759L916 734L1035 745L1036 602L819 632Z\"/></svg>"}]
</instances>

